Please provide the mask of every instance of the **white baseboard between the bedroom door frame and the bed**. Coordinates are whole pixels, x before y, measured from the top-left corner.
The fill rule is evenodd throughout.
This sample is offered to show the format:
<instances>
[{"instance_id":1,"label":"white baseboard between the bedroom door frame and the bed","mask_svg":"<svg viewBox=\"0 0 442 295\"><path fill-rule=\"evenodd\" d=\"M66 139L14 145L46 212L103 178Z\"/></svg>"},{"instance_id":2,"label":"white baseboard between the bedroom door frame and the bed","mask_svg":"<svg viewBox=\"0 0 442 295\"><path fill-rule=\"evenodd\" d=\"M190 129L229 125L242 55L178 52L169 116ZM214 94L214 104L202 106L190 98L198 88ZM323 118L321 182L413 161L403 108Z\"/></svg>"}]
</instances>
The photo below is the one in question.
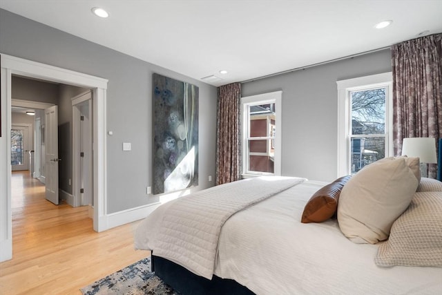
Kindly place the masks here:
<instances>
[{"instance_id":1,"label":"white baseboard between the bedroom door frame and the bed","mask_svg":"<svg viewBox=\"0 0 442 295\"><path fill-rule=\"evenodd\" d=\"M124 211L119 211L115 213L108 214L103 220L106 224L106 229L111 229L113 227L119 227L120 225L126 225L126 223L134 222L143 218L146 218L153 210L159 207L161 202L155 202L152 204L146 204L141 207L136 207L132 209L127 209ZM104 229L104 230L106 230Z\"/></svg>"}]
</instances>

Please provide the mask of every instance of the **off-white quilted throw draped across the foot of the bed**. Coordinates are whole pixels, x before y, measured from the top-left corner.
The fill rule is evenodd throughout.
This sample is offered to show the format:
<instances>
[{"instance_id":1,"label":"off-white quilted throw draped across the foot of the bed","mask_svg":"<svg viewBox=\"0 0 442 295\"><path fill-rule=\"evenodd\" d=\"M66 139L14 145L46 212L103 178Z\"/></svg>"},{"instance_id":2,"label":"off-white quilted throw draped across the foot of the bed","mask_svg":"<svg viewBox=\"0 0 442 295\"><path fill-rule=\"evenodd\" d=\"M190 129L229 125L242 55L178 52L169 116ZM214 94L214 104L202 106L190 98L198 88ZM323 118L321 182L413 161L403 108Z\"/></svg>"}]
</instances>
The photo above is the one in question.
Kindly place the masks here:
<instances>
[{"instance_id":1,"label":"off-white quilted throw draped across the foot of the bed","mask_svg":"<svg viewBox=\"0 0 442 295\"><path fill-rule=\"evenodd\" d=\"M186 196L164 212L151 249L155 249L156 256L210 280L224 222L242 209L303 181L305 178L253 178Z\"/></svg>"}]
</instances>

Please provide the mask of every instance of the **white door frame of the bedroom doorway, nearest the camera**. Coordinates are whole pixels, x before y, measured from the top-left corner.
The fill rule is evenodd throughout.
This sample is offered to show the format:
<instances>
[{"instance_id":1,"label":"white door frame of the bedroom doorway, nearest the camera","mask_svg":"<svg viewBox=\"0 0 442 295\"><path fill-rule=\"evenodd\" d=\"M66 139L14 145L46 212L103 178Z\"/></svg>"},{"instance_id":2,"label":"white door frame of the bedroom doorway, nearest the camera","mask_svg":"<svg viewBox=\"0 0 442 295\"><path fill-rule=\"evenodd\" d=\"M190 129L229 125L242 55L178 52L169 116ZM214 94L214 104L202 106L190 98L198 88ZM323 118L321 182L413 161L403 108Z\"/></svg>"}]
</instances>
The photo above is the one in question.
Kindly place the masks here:
<instances>
[{"instance_id":1,"label":"white door frame of the bedroom doorway, nearest the camera","mask_svg":"<svg viewBox=\"0 0 442 295\"><path fill-rule=\"evenodd\" d=\"M0 179L6 185L0 187L0 261L12 258L12 209L11 209L11 94L12 75L21 75L50 82L70 84L93 89L93 228L104 231L106 222L106 89L107 79L94 77L73 70L39 62L0 55L0 100L1 100L1 137L0 137ZM6 196L4 198L3 196Z\"/></svg>"}]
</instances>

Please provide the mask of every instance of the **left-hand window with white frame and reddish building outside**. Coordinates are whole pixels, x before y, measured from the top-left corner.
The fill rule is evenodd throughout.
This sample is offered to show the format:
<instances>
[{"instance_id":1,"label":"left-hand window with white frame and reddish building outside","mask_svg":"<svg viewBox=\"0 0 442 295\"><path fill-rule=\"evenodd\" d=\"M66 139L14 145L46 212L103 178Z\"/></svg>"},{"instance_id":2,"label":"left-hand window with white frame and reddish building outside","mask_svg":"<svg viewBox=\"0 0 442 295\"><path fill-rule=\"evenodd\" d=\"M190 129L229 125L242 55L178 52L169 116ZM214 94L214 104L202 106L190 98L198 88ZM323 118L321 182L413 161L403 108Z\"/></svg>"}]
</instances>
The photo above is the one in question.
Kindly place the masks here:
<instances>
[{"instance_id":1,"label":"left-hand window with white frame and reddish building outside","mask_svg":"<svg viewBox=\"0 0 442 295\"><path fill-rule=\"evenodd\" d=\"M281 174L282 91L241 98L242 174Z\"/></svg>"}]
</instances>

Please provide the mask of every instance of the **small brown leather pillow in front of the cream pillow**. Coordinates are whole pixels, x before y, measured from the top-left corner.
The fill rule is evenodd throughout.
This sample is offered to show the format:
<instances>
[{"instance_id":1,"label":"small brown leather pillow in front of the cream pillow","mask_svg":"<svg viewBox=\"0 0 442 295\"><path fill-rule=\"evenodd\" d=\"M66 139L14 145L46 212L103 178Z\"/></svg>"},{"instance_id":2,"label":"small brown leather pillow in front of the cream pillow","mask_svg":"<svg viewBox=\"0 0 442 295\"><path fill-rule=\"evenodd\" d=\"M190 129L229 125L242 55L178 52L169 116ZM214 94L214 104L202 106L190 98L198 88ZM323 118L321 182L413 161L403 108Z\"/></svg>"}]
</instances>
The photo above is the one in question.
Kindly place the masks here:
<instances>
[{"instance_id":1,"label":"small brown leather pillow in front of the cream pillow","mask_svg":"<svg viewBox=\"0 0 442 295\"><path fill-rule=\"evenodd\" d=\"M332 218L338 208L340 191L349 178L343 176L316 191L304 207L301 222L323 222Z\"/></svg>"}]
</instances>

